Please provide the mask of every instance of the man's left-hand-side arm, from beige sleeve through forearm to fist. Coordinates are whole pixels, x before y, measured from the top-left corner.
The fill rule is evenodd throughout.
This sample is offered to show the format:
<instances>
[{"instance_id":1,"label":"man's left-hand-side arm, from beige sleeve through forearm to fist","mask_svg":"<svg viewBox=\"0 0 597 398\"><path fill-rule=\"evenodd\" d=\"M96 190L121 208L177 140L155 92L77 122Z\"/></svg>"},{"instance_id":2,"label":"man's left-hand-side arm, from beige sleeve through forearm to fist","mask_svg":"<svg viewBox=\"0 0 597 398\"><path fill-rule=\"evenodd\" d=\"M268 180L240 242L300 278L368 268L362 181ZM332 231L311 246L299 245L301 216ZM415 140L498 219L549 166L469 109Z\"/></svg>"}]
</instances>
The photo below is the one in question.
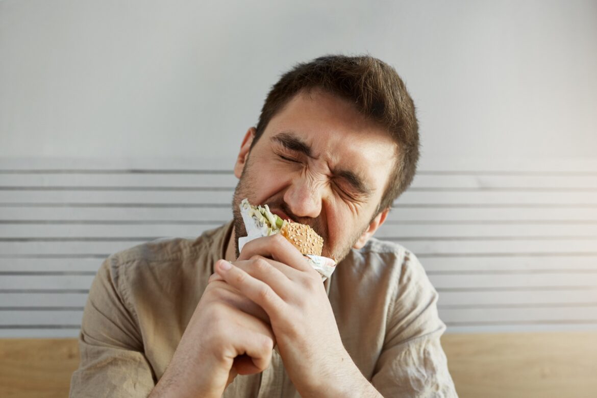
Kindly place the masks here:
<instances>
[{"instance_id":1,"label":"man's left-hand-side arm, from beige sleeve through forearm to fist","mask_svg":"<svg viewBox=\"0 0 597 398\"><path fill-rule=\"evenodd\" d=\"M108 258L91 286L79 341L81 364L73 374L70 396L220 397L236 374L269 366L275 344L271 329L248 314L259 311L239 310L242 297L217 282L205 289L154 390L156 378L144 356L127 291L119 286L119 271L117 258Z\"/></svg>"}]
</instances>

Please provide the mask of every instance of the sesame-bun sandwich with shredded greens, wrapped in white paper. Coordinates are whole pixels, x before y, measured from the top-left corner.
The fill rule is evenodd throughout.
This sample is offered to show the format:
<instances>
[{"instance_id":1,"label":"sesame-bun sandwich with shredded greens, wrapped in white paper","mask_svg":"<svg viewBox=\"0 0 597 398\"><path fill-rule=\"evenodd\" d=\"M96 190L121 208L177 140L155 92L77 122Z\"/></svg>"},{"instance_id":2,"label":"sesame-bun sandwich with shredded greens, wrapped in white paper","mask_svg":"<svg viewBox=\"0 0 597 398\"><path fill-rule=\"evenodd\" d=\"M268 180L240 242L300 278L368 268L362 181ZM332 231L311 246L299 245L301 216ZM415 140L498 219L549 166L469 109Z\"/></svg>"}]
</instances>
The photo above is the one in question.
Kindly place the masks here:
<instances>
[{"instance_id":1,"label":"sesame-bun sandwich with shredded greens, wrapped in white paper","mask_svg":"<svg viewBox=\"0 0 597 398\"><path fill-rule=\"evenodd\" d=\"M324 239L310 226L294 223L291 220L282 220L281 217L269 210L269 206L253 206L246 198L242 200L240 208L247 236L239 237L239 250L242 251L242 246L245 243L257 237L279 233L308 258L309 263L319 271L324 280L330 277L336 267L336 261L322 257Z\"/></svg>"}]
</instances>

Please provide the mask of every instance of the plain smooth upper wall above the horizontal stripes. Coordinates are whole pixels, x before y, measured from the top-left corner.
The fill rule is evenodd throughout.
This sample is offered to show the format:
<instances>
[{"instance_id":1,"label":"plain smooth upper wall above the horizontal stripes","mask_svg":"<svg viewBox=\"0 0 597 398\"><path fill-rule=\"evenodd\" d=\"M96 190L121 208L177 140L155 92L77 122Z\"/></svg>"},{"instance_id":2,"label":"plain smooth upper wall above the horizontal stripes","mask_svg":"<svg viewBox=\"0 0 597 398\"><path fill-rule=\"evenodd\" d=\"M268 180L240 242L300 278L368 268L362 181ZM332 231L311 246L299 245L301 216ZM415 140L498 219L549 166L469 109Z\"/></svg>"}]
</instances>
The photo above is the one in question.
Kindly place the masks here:
<instances>
[{"instance_id":1,"label":"plain smooth upper wall above the horizontal stripes","mask_svg":"<svg viewBox=\"0 0 597 398\"><path fill-rule=\"evenodd\" d=\"M229 161L278 75L396 67L436 156L597 147L595 1L2 1L0 157Z\"/></svg>"}]
</instances>

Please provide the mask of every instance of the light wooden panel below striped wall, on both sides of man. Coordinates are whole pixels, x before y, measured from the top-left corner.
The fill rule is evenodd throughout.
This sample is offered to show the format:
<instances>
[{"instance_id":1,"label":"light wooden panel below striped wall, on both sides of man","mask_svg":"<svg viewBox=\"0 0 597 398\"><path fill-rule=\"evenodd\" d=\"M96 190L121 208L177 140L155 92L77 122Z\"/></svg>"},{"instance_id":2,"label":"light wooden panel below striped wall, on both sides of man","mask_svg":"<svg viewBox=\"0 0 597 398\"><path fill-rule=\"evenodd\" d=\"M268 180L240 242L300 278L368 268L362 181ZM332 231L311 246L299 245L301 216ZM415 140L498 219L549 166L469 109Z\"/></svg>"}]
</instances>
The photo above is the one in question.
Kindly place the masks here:
<instances>
[{"instance_id":1,"label":"light wooden panel below striped wall, on both sides of man","mask_svg":"<svg viewBox=\"0 0 597 398\"><path fill-rule=\"evenodd\" d=\"M461 398L594 397L597 333L448 334ZM66 397L79 362L74 339L0 340L0 396Z\"/></svg>"}]
</instances>

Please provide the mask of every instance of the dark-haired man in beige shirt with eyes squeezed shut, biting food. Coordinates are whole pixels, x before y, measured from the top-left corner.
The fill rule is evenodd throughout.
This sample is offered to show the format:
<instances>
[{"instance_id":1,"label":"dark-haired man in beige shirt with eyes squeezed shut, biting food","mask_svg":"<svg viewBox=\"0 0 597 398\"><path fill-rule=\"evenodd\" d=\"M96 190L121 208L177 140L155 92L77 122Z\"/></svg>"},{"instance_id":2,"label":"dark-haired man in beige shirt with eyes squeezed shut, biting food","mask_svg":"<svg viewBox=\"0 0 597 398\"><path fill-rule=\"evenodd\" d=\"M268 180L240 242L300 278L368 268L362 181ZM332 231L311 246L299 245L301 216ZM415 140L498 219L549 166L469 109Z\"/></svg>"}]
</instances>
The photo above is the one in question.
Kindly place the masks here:
<instances>
[{"instance_id":1,"label":"dark-haired man in beige shirt with eyes squeezed shut, biting food","mask_svg":"<svg viewBox=\"0 0 597 398\"><path fill-rule=\"evenodd\" d=\"M413 254L371 238L417 159L413 101L391 67L298 64L242 141L233 223L103 264L71 396L456 396L435 289ZM279 235L239 252L244 198L322 236L331 278Z\"/></svg>"}]
</instances>

